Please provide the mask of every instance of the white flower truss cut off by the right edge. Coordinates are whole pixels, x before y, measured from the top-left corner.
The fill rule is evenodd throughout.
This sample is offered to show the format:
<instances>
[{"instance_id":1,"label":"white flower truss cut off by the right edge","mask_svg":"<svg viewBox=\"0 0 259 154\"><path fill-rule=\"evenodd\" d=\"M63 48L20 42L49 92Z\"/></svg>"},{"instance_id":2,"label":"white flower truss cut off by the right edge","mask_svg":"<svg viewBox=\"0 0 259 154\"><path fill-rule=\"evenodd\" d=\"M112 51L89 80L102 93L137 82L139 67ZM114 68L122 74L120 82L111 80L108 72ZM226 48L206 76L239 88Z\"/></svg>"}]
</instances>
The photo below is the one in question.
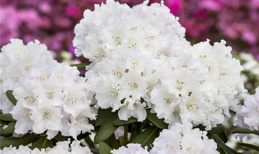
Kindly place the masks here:
<instances>
[{"instance_id":1,"label":"white flower truss cut off by the right edge","mask_svg":"<svg viewBox=\"0 0 259 154\"><path fill-rule=\"evenodd\" d=\"M237 124L241 128L259 129L259 87L254 95L245 97L244 105L239 105L237 110Z\"/></svg>"}]
</instances>

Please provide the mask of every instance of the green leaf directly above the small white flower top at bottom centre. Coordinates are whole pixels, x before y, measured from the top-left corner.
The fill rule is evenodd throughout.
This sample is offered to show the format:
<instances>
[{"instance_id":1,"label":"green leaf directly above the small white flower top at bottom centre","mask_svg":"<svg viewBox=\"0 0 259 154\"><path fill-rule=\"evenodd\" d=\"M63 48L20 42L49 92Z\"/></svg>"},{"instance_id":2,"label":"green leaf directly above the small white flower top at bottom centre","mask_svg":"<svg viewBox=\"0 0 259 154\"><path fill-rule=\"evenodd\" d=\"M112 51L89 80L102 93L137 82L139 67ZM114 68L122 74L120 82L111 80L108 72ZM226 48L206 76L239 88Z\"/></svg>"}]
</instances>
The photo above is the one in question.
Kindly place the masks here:
<instances>
[{"instance_id":1,"label":"green leaf directly above the small white flower top at bottom centre","mask_svg":"<svg viewBox=\"0 0 259 154\"><path fill-rule=\"evenodd\" d=\"M145 146L147 146L148 150L150 150L151 144L153 144L155 138L159 136L159 132L160 132L160 128L156 126L151 126L145 129L140 134L138 134L138 136L136 136L131 143L141 144L142 148L145 148Z\"/></svg>"}]
</instances>

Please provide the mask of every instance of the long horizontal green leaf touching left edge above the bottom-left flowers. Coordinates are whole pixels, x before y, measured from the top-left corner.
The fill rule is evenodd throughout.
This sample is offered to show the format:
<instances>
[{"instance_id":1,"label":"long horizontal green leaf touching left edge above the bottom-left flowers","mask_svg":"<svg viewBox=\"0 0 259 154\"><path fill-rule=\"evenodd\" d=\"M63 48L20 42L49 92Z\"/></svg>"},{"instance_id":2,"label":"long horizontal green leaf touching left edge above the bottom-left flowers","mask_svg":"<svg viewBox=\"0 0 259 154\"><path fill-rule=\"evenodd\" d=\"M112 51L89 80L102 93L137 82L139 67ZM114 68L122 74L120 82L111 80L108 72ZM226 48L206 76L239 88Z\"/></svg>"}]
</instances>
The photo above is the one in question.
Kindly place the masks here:
<instances>
[{"instance_id":1,"label":"long horizontal green leaf touching left edge above the bottom-left flowers","mask_svg":"<svg viewBox=\"0 0 259 154\"><path fill-rule=\"evenodd\" d=\"M0 149L4 147L19 147L20 145L28 145L30 143L36 142L38 137L18 137L18 138L4 138L0 140Z\"/></svg>"}]
</instances>

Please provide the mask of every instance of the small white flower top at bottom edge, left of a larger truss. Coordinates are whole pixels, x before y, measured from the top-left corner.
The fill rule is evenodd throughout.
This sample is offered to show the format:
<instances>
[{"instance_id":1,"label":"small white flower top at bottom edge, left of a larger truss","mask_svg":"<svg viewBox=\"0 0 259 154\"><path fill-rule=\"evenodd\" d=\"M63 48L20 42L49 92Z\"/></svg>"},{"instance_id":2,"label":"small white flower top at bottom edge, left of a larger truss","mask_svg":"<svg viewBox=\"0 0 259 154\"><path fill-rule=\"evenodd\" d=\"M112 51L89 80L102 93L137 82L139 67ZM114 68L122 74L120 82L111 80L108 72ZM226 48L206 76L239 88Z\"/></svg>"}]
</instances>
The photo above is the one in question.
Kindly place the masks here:
<instances>
[{"instance_id":1,"label":"small white flower top at bottom edge, left of a larger truss","mask_svg":"<svg viewBox=\"0 0 259 154\"><path fill-rule=\"evenodd\" d=\"M141 144L127 144L127 147L122 146L119 149L111 151L113 154L149 154L147 147L142 148Z\"/></svg>"}]
</instances>

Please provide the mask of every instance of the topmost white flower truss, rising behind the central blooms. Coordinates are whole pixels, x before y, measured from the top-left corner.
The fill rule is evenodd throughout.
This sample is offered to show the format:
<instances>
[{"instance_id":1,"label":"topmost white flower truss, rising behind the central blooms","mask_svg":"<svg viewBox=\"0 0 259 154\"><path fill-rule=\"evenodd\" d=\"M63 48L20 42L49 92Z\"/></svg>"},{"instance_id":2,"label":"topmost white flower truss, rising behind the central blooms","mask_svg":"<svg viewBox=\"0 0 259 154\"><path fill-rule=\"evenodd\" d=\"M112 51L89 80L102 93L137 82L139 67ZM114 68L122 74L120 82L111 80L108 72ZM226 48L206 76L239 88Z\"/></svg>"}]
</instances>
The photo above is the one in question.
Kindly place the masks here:
<instances>
[{"instance_id":1,"label":"topmost white flower truss, rising behind the central blooms","mask_svg":"<svg viewBox=\"0 0 259 154\"><path fill-rule=\"evenodd\" d=\"M170 14L163 2L147 6L148 2L130 8L107 0L101 6L96 4L94 11L85 10L84 18L74 30L76 55L83 55L94 65L117 47L158 55L171 44L185 40L185 28L178 22L179 18Z\"/></svg>"}]
</instances>

